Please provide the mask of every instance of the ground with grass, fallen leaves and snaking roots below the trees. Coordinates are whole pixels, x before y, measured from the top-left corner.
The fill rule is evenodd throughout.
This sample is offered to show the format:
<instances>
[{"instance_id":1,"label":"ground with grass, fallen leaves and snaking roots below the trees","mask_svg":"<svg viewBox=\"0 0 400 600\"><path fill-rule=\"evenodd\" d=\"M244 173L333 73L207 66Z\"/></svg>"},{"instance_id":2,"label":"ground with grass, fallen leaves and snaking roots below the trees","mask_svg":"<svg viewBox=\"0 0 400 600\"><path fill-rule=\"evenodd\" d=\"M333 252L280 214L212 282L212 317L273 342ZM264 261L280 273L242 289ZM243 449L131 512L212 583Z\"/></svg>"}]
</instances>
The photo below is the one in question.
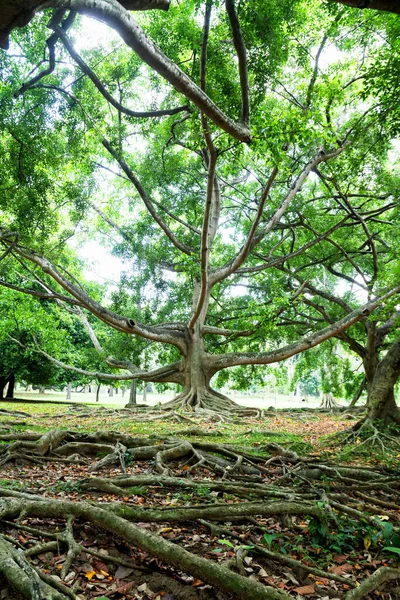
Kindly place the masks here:
<instances>
[{"instance_id":1,"label":"ground with grass, fallen leaves and snaking roots below the trees","mask_svg":"<svg viewBox=\"0 0 400 600\"><path fill-rule=\"evenodd\" d=\"M347 418L80 408L0 405L2 600L2 548L59 598L400 598L398 457L339 461Z\"/></svg>"}]
</instances>

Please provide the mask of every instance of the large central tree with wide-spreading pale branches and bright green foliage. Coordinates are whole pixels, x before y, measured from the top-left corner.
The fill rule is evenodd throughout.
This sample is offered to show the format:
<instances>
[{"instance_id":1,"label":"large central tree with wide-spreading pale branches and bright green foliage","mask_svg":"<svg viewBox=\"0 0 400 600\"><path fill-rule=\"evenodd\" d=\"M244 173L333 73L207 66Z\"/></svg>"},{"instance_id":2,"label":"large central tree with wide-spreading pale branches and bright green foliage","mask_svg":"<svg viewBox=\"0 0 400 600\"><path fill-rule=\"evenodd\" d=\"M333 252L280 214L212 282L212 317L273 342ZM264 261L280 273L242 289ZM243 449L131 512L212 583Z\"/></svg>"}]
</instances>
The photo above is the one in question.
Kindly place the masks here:
<instances>
[{"instance_id":1,"label":"large central tree with wide-spreading pale branches and bright green foliage","mask_svg":"<svg viewBox=\"0 0 400 600\"><path fill-rule=\"evenodd\" d=\"M383 282L364 305L288 345L271 332L283 308L299 301L303 284L272 284L265 293L256 269L255 291L235 293L246 263L272 256L290 235L317 172L339 177L345 161L359 164L360 148L363 161L374 159L377 140L388 151L382 121L390 123L396 109L364 85L377 51L388 52L390 38L382 40L390 19L349 16L333 4L288 2L280 10L274 4L237 12L227 0L224 8L208 2L193 12L183 3L171 9L169 21L149 13L142 21L156 46L119 3L74 0L67 8L101 16L137 55L116 41L79 54L75 13L65 11L52 15L47 40L49 15L33 40L29 30L18 32L17 60L3 55L2 243L4 260L17 260L21 273L17 283L6 277L2 283L72 306L81 320L88 311L119 332L166 345L168 351L154 356L170 362L154 369L108 360L128 367L131 377L180 384L174 407L229 410L233 403L211 387L216 373L281 361L340 335L399 290L398 281ZM48 65L32 76L44 41ZM327 49L335 58L323 62ZM151 106L133 110L133 103ZM353 172L362 176L362 164ZM108 304L71 273L69 254L60 255L71 229L93 214L88 211L119 236L115 251L130 263ZM341 229L346 211L337 207L331 218L298 255ZM285 265L286 255L278 262ZM132 294L133 310L124 302ZM261 318L259 311L254 318L256 305L263 307Z\"/></svg>"}]
</instances>

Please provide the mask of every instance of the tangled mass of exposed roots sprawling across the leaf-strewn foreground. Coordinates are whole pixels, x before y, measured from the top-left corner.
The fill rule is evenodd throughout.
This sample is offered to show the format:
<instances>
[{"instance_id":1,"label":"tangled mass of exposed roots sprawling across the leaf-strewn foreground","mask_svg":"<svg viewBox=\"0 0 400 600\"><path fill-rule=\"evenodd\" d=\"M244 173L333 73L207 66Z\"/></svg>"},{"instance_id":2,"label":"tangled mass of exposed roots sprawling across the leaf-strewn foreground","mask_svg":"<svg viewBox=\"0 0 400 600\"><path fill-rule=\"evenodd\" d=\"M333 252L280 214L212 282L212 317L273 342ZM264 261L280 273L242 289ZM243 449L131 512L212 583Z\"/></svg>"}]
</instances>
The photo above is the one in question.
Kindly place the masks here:
<instances>
[{"instance_id":1,"label":"tangled mass of exposed roots sprawling across the leaf-strewn foreground","mask_svg":"<svg viewBox=\"0 0 400 600\"><path fill-rule=\"evenodd\" d=\"M172 412L170 414L173 415ZM220 592L210 595L212 598L218 598L218 594L222 593L224 595L220 597L223 598L289 600L294 597L294 585L290 588L288 584L288 593L266 585L270 579L274 581L274 574L280 577L282 570L285 573L291 570L300 586L310 585L316 578L333 581L338 586L335 588L335 597L343 600L358 600L383 583L398 578L398 569L378 569L364 581L358 571L343 577L342 573L329 570L332 557L330 555L327 558L328 551L324 558L328 561L327 565L322 563L323 568L320 568L319 557L314 558L315 562L312 556L303 562L301 553L293 557L290 546L288 552L290 542L286 539L293 528L297 531L292 533L291 539L304 536L306 546L311 539L307 527L310 531L312 526L321 531L325 528L326 534L322 535L326 537L320 542L324 553L325 543L327 548L329 544L336 543L336 540L330 540L331 530L354 528L355 533L359 532L361 536L359 553L364 551L364 528L367 527L376 532L374 552L379 552L385 544L383 529L387 523L382 516L389 520L394 533L399 533L399 507L395 499L400 490L400 473L394 468L376 469L328 463L318 456L302 457L281 445L268 443L268 440L257 446L257 454L252 454L251 450L245 451L233 445L196 439L199 430L188 431L193 433L190 440L182 439L182 432L179 435L175 432L165 436L139 437L118 431L61 433L59 430L40 436L34 434L25 439L21 437L15 441L12 437L4 440L6 443L0 447L1 458L7 456L8 462L11 462L11 456L19 455L20 460L21 455L25 455L27 461L38 461L38 464L50 460L55 463L71 461L73 457L88 463L88 469L85 469L87 476L82 474L81 467L71 469L77 475L73 488L68 487L71 482L62 477L61 493L66 493L67 497L70 494L70 500L49 497L51 493L59 495L60 488L57 487L57 479L53 479L55 486L52 488L47 475L43 476L44 482L41 484L33 484L40 492L36 495L0 486L0 523L8 535L7 538L0 538L1 542L11 542L13 552L21 555L28 564L32 560L39 561L38 555L50 553L54 558L63 556L61 552L64 552L62 569L55 571L64 581L58 580L54 585L49 575L30 564L41 583L50 587L50 595L46 596L41 590L40 598L65 600L68 597L75 600L75 594L80 590L71 588L71 582L75 577L76 585L87 584L84 576L79 576L79 565L83 561L88 562L90 556L100 563L109 562L110 565L134 569L136 581L136 573L141 575L143 571L148 580L157 569L165 579L171 577L175 581L184 573L183 577L191 576L213 586L212 593L218 588ZM372 431L372 435L375 433ZM18 435L24 434L16 434L14 439ZM354 435L360 435L360 432L354 432ZM99 452L105 454L101 460L97 458ZM144 463L142 469L140 463ZM100 469L105 471L103 477L92 475ZM7 467L4 473L8 470L11 471ZM118 470L122 472L116 475ZM17 473L16 469L14 471ZM40 472L35 467L32 471ZM18 472L20 477L24 475ZM10 479L10 482L13 482L14 488L16 478ZM46 496L41 495L43 489L46 489ZM77 492L86 495L86 501L77 501ZM224 498L224 494L229 496ZM148 503L146 496L150 498ZM151 503L153 497L156 501ZM136 523L140 523L140 526ZM35 540L36 543L24 540L29 536L18 535L18 530L31 533L38 540ZM81 532L94 531L91 538L93 543L94 539L101 539L101 530L110 536L110 540L115 539L119 547L125 544L126 553L105 555L99 551L101 548L97 544L94 548L90 547L85 535L85 542L79 539ZM191 544L191 533L188 532L193 530L200 534L198 541L201 548L209 546L209 558L199 556L198 548L193 552L188 551ZM235 546L229 549L230 554L222 553L218 557L222 563L217 562L216 555L212 554L220 540L205 542L207 535L204 535L204 531L209 530L212 535L226 536L234 541ZM163 537L164 532L167 537ZM282 542L282 548L278 543L272 549L270 542L267 546L263 544L265 534L267 539L280 537L278 541ZM16 539L13 539L14 535ZM173 539L174 543L169 539ZM33 546L29 547L32 543ZM9 546L6 548L10 553ZM82 553L88 556L82 558ZM140 564L140 555L147 556L144 565ZM149 562L151 570L145 566ZM254 566L256 562L260 564L251 571L249 565ZM16 565L22 568L20 564ZM78 568L75 568L76 565ZM110 573L114 575L116 567L114 571L112 569L110 566ZM170 574L167 575L167 572ZM251 578L249 572L252 573ZM309 576L313 576L314 580ZM357 576L360 581L357 581ZM46 581L43 581L46 577ZM10 586L14 587L9 581ZM30 595L26 597L35 598L33 594L36 592L32 589L34 581L38 581L38 578L29 580L27 594ZM362 593L351 595L353 592L348 592L345 596L348 587L344 586L354 587L354 592ZM193 591L190 585L187 590L189 587ZM104 594L111 595L113 589L110 583L110 588ZM317 587L315 590L320 592ZM207 590L204 594L207 594ZM196 596L190 593L187 598L203 600L204 594L199 592L199 596Z\"/></svg>"}]
</instances>

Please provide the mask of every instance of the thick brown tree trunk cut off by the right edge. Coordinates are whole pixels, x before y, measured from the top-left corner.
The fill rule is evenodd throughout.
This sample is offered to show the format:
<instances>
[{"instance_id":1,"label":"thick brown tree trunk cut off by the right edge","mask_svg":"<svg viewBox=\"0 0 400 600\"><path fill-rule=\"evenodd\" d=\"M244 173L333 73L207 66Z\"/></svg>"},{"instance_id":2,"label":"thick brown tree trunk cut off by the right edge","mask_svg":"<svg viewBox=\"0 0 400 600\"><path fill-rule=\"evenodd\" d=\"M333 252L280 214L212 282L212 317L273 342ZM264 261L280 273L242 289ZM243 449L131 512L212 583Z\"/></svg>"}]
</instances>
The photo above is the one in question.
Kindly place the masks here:
<instances>
[{"instance_id":1,"label":"thick brown tree trunk cut off by the right edge","mask_svg":"<svg viewBox=\"0 0 400 600\"><path fill-rule=\"evenodd\" d=\"M378 364L371 385L368 386L367 422L386 426L400 425L400 410L394 397L394 386L400 377L400 337Z\"/></svg>"}]
</instances>

